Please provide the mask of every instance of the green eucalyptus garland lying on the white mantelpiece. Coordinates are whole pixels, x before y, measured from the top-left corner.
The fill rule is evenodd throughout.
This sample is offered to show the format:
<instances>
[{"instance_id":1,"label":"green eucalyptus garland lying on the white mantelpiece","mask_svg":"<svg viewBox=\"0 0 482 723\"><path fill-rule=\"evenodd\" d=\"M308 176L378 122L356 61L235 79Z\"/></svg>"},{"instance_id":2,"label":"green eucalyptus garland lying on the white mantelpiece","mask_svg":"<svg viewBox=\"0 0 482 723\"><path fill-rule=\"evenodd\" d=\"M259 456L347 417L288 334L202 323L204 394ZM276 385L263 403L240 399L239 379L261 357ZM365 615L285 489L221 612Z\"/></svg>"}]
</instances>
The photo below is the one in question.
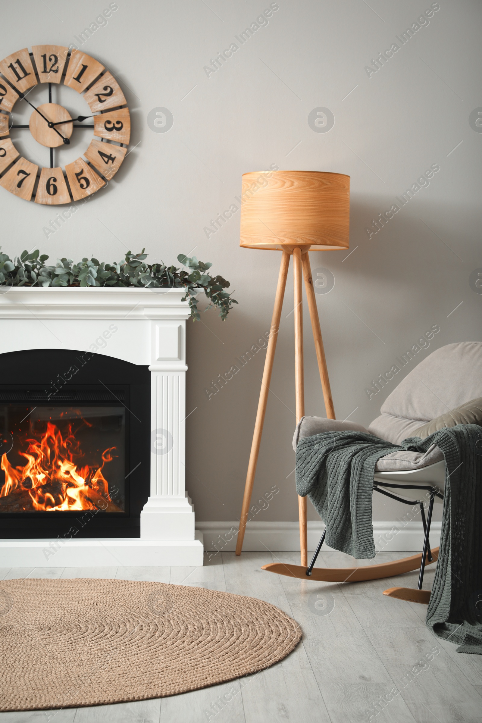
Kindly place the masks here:
<instances>
[{"instance_id":1,"label":"green eucalyptus garland lying on the white mantelpiece","mask_svg":"<svg viewBox=\"0 0 482 723\"><path fill-rule=\"evenodd\" d=\"M0 247L1 249L1 247ZM189 299L193 321L200 321L197 309L197 294L203 290L210 307L218 307L224 321L232 304L230 294L223 289L230 286L222 276L211 276L207 270L209 262L198 261L195 256L178 255L178 262L189 269L181 270L176 266L166 266L163 262L147 264L147 254L126 253L122 262L100 263L97 259L83 258L74 264L72 259L57 259L56 265L48 265L48 256L38 249L29 254L22 252L14 261L7 254L0 253L0 286L136 286L137 288L184 288L186 294L182 301Z\"/></svg>"}]
</instances>

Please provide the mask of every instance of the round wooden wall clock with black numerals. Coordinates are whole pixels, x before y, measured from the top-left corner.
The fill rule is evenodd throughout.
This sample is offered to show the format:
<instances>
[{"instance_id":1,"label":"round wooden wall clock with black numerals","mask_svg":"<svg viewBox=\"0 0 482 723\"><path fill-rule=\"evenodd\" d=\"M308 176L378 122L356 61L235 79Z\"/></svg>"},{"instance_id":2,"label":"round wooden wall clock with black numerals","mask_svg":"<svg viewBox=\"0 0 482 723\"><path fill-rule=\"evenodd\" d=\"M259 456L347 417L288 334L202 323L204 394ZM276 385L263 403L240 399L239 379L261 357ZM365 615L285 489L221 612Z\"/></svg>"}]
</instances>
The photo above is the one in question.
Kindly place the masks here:
<instances>
[{"instance_id":1,"label":"round wooden wall clock with black numerals","mask_svg":"<svg viewBox=\"0 0 482 723\"><path fill-rule=\"evenodd\" d=\"M45 101L33 103L30 92L45 85ZM81 94L85 114L69 112L52 102L52 84L63 84ZM36 98L37 96L35 96ZM13 108L27 106L28 125L16 124ZM84 122L87 121L87 124ZM42 168L23 158L10 139L10 130L22 129L50 149L50 166ZM72 163L53 167L56 155L66 151L78 129L92 128L89 147ZM129 108L119 83L97 60L62 46L33 46L0 61L0 186L26 201L59 205L92 195L106 185L124 161L131 133ZM27 139L22 146L28 147Z\"/></svg>"}]
</instances>

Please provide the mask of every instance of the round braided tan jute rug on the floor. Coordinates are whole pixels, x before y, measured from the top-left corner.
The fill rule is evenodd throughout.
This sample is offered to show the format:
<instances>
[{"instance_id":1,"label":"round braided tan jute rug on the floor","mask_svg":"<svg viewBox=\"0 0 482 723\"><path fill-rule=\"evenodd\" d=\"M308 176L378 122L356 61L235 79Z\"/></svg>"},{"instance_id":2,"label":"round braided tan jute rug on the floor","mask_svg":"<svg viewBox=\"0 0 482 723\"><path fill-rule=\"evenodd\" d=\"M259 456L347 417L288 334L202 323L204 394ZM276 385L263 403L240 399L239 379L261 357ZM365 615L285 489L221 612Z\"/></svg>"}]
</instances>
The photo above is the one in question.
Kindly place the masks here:
<instances>
[{"instance_id":1,"label":"round braided tan jute rug on the floor","mask_svg":"<svg viewBox=\"0 0 482 723\"><path fill-rule=\"evenodd\" d=\"M126 580L0 582L0 710L141 701L282 660L298 623L252 597Z\"/></svg>"}]
</instances>

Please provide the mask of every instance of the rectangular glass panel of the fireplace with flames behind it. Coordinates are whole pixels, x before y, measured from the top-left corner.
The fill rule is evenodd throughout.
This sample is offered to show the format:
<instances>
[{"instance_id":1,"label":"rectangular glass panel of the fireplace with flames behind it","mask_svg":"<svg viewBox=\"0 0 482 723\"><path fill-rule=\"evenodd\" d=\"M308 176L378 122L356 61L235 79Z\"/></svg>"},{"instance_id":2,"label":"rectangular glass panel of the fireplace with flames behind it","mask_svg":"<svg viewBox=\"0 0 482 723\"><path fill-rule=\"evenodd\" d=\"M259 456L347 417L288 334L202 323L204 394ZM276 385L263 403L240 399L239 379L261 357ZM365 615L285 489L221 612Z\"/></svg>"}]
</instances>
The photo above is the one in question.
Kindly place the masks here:
<instances>
[{"instance_id":1,"label":"rectangular glass panel of the fireplace with flames behind it","mask_svg":"<svg viewBox=\"0 0 482 723\"><path fill-rule=\"evenodd\" d=\"M124 513L119 405L0 403L0 513Z\"/></svg>"}]
</instances>

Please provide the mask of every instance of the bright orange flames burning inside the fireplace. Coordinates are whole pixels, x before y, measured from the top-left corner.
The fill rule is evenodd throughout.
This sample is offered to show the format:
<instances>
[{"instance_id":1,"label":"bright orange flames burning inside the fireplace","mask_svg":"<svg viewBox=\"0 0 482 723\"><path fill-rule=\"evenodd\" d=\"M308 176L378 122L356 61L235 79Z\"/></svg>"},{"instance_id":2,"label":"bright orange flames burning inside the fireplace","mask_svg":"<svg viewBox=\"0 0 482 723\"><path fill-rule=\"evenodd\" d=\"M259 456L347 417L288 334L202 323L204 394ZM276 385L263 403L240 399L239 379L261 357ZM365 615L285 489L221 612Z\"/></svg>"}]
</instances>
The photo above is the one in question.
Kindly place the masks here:
<instances>
[{"instance_id":1,"label":"bright orange flames burning inside the fireplace","mask_svg":"<svg viewBox=\"0 0 482 723\"><path fill-rule=\"evenodd\" d=\"M88 424L88 422L86 422ZM27 439L25 466L12 467L7 454L1 457L1 469L5 472L5 484L0 497L20 496L25 511L33 508L40 512L94 510L121 512L108 492L108 482L103 468L113 460L110 447L102 453L102 464L98 469L85 465L77 469L74 458L82 456L79 442L69 424L65 439L55 424L47 423L47 431L40 441ZM29 499L30 497L30 499Z\"/></svg>"}]
</instances>

